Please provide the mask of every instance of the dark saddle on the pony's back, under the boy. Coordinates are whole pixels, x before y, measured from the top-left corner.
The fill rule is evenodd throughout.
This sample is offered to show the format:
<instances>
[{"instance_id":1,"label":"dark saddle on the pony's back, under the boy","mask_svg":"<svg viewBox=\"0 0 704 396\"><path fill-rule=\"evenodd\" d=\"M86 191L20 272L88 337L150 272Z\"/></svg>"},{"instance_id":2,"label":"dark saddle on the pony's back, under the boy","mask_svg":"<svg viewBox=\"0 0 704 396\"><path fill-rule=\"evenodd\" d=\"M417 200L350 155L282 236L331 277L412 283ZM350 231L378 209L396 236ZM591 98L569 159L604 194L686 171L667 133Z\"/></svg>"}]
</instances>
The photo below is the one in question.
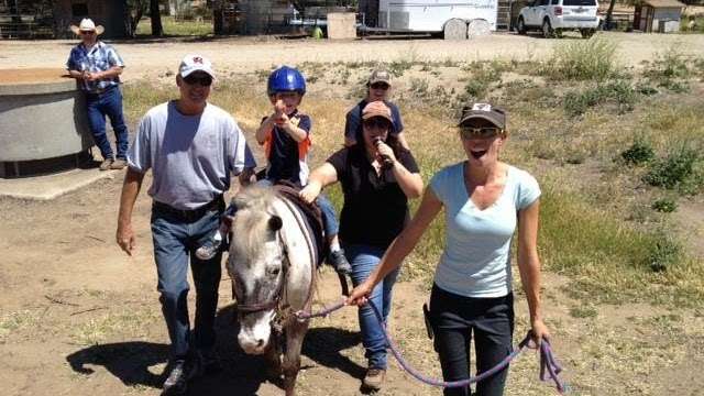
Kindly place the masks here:
<instances>
[{"instance_id":1,"label":"dark saddle on the pony's back, under the boy","mask_svg":"<svg viewBox=\"0 0 704 396\"><path fill-rule=\"evenodd\" d=\"M324 228L322 226L322 212L318 205L306 202L298 193L300 187L288 180L278 180L274 185L274 190L282 197L288 199L300 211L304 217L304 223L310 234L314 237L316 244L316 265L319 267L324 257L328 256L330 246L326 242Z\"/></svg>"}]
</instances>

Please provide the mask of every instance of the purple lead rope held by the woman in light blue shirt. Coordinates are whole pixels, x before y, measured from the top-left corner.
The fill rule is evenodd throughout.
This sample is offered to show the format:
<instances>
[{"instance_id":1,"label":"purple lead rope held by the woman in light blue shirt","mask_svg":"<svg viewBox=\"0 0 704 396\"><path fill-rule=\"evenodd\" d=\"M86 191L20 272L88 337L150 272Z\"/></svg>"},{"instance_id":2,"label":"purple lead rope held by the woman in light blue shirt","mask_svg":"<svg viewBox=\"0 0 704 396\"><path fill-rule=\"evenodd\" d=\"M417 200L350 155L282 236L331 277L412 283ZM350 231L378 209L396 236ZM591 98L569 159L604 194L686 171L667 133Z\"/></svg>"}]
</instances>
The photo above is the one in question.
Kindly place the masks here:
<instances>
[{"instance_id":1,"label":"purple lead rope held by the woman in light blue shirt","mask_svg":"<svg viewBox=\"0 0 704 396\"><path fill-rule=\"evenodd\" d=\"M529 332L522 339L522 341L520 341L520 343L518 344L518 348L515 349L501 363L498 363L494 367L476 376L472 376L466 380L460 380L460 381L450 381L450 382L440 381L440 380L431 378L421 374L416 369L414 369L410 364L408 364L408 362L402 355L398 346L396 345L394 340L392 340L392 337L388 334L388 330L386 329L386 323L384 322L384 318L382 317L382 314L380 312L378 307L376 307L376 305L372 300L367 300L367 302L372 307L372 310L374 311L374 316L376 317L376 320L378 320L378 322L382 324L382 330L384 331L384 338L386 339L386 343L388 344L388 348L392 350L392 354L394 355L394 358L396 358L396 360L398 361L398 364L400 364L400 366L404 367L404 370L408 372L408 374L410 374L416 380L420 381L424 384L428 384L432 386L451 387L451 388L465 387L470 384L474 384L480 381L486 380L487 377L506 369L506 366L508 366L508 363L510 363L510 361L513 361L516 356L518 356L522 351L525 351L528 348L528 344L530 343L530 340L531 340L530 332ZM344 300L338 304L334 304L330 307L323 308L322 310L317 312L298 311L296 312L296 317L299 320L326 317L342 307L344 307ZM552 350L550 349L550 343L548 342L548 340L542 340L542 342L540 343L540 381L552 380L554 382L558 393L564 394L565 393L564 384L558 377L558 374L560 374L560 372L562 372L562 367L556 361L554 355L552 354Z\"/></svg>"}]
</instances>

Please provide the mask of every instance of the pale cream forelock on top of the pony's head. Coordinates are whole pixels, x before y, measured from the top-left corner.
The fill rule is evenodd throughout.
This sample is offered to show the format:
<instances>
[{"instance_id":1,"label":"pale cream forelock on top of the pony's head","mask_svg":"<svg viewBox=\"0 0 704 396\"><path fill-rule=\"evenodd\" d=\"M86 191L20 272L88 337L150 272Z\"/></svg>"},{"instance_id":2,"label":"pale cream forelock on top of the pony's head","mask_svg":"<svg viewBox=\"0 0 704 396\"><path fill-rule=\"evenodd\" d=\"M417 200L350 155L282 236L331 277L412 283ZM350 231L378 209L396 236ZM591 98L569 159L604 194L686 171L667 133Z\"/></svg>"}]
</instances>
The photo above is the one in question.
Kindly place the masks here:
<instances>
[{"instance_id":1,"label":"pale cream forelock on top of the pony's head","mask_svg":"<svg viewBox=\"0 0 704 396\"><path fill-rule=\"evenodd\" d=\"M275 199L272 188L256 185L244 188L232 199L238 212L232 222L231 244L238 254L254 257L268 241L268 220L274 215Z\"/></svg>"}]
</instances>

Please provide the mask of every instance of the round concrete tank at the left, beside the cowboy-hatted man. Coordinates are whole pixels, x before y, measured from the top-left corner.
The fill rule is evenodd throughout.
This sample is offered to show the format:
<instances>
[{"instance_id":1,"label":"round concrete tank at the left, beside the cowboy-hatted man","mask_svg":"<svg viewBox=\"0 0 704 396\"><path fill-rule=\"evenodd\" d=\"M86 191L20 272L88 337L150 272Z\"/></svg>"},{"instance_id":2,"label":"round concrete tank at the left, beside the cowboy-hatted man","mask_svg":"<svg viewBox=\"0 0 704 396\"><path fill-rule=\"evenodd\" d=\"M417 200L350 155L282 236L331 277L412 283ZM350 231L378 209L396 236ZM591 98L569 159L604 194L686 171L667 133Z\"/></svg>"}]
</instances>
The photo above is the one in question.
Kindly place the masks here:
<instances>
[{"instance_id":1,"label":"round concrete tank at the left, beside the cowboy-hatted man","mask_svg":"<svg viewBox=\"0 0 704 396\"><path fill-rule=\"evenodd\" d=\"M0 69L0 177L77 167L92 139L85 98L64 69Z\"/></svg>"}]
</instances>

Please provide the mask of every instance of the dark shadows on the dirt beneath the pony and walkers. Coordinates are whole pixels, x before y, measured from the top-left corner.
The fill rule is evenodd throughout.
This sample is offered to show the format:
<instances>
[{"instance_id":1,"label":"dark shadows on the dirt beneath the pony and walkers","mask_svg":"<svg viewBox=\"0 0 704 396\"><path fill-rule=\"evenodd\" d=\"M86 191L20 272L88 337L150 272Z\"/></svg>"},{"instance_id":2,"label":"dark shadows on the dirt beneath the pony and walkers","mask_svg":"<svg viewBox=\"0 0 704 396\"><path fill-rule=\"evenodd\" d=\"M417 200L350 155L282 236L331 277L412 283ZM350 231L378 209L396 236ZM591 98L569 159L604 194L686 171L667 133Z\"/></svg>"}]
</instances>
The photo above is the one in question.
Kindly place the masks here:
<instances>
[{"instance_id":1,"label":"dark shadows on the dirt beneath the pony and walkers","mask_svg":"<svg viewBox=\"0 0 704 396\"><path fill-rule=\"evenodd\" d=\"M155 307L157 309L157 307ZM222 308L216 318L218 355L222 370L195 378L189 384L189 395L255 395L262 383L268 380L264 360L244 354L237 343L239 326L234 320L234 306ZM340 351L356 345L356 332L336 328L314 328L306 334L302 354L319 365L334 369L362 378L365 369L343 356ZM161 388L164 373L154 373L150 367L166 363L168 345L145 341L128 341L91 345L66 356L72 370L90 376L91 366L103 366L127 386ZM301 366L301 370L310 366ZM280 387L280 382L274 382Z\"/></svg>"}]
</instances>

